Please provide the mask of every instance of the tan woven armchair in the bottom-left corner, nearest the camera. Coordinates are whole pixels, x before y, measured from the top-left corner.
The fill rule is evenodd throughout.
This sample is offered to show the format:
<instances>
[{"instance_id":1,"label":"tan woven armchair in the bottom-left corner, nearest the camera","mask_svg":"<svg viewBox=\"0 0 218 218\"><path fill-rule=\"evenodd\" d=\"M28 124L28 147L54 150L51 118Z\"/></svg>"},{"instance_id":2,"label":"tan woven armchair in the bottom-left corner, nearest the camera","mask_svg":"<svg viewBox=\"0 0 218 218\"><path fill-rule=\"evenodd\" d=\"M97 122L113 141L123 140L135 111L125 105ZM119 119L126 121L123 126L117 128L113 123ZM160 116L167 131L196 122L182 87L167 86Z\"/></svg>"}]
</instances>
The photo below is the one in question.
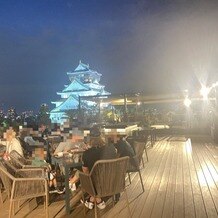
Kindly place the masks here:
<instances>
[{"instance_id":1,"label":"tan woven armchair in the bottom-left corner, nearest the camera","mask_svg":"<svg viewBox=\"0 0 218 218\"><path fill-rule=\"evenodd\" d=\"M14 214L15 201L45 197L45 214L48 218L48 184L44 178L16 178L0 162L0 178L10 198L9 218Z\"/></svg>"}]
</instances>

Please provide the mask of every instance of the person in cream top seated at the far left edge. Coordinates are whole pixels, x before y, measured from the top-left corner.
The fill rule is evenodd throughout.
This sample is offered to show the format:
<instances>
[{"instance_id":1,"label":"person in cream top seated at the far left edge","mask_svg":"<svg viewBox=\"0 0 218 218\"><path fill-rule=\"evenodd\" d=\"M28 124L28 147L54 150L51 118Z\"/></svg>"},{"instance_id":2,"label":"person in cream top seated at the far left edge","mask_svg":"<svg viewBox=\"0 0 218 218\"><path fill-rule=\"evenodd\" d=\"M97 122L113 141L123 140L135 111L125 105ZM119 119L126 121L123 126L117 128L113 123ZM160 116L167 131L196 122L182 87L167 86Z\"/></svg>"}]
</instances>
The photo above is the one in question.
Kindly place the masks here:
<instances>
[{"instance_id":1,"label":"person in cream top seated at the far left edge","mask_svg":"<svg viewBox=\"0 0 218 218\"><path fill-rule=\"evenodd\" d=\"M1 141L1 144L6 146L6 152L4 154L4 159L8 159L8 155L11 151L15 150L17 151L21 156L23 156L23 149L19 142L19 140L16 139L16 132L13 130L12 127L10 127L5 133L4 133L5 141Z\"/></svg>"}]
</instances>

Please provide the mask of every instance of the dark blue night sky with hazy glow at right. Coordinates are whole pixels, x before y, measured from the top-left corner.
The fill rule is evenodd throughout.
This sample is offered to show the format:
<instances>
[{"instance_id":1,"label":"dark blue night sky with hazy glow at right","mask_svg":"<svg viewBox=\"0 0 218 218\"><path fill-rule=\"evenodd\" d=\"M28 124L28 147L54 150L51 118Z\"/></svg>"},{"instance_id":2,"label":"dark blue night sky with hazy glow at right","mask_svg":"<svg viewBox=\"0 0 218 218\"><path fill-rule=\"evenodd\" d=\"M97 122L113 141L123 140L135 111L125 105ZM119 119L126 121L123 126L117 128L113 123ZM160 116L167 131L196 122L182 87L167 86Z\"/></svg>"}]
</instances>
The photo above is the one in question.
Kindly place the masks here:
<instances>
[{"instance_id":1,"label":"dark blue night sky with hazy glow at right","mask_svg":"<svg viewBox=\"0 0 218 218\"><path fill-rule=\"evenodd\" d=\"M79 60L111 93L218 80L218 1L0 0L0 108L54 106Z\"/></svg>"}]
</instances>

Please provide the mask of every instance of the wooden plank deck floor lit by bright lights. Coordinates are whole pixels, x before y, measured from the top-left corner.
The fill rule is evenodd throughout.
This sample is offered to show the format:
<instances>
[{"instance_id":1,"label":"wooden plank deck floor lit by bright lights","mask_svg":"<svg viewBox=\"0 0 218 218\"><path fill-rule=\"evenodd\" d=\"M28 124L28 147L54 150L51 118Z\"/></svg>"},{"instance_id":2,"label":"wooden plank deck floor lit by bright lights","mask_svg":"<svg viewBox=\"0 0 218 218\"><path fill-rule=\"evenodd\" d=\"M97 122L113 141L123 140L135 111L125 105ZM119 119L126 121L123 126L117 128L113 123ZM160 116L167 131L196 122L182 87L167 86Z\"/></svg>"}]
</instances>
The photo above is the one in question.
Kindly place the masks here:
<instances>
[{"instance_id":1,"label":"wooden plank deck floor lit by bright lights","mask_svg":"<svg viewBox=\"0 0 218 218\"><path fill-rule=\"evenodd\" d=\"M145 192L138 174L132 175L131 185L127 180L132 217L218 217L218 146L210 138L159 138L148 156L141 170ZM7 216L8 206L6 201L0 217ZM32 210L35 206L34 201L26 204L15 217L44 217L43 206ZM124 195L111 207L102 210L101 216L128 217ZM63 200L51 203L49 212L50 217L94 217L93 211L84 215L81 205L66 216Z\"/></svg>"}]
</instances>

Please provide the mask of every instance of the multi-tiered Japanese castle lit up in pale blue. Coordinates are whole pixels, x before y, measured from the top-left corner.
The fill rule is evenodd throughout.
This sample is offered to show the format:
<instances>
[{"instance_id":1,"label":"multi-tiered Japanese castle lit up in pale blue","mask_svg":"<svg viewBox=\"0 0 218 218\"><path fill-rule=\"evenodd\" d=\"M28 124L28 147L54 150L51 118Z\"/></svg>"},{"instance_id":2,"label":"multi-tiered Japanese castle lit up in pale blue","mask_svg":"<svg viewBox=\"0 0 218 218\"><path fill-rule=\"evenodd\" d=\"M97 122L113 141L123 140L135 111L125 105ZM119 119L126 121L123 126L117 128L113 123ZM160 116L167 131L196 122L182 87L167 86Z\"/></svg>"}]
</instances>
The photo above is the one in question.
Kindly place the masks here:
<instances>
[{"instance_id":1,"label":"multi-tiered Japanese castle lit up in pale blue","mask_svg":"<svg viewBox=\"0 0 218 218\"><path fill-rule=\"evenodd\" d=\"M57 92L60 99L52 104L55 108L50 112L52 123L63 124L68 120L67 111L78 109L79 96L108 95L109 92L104 90L104 86L99 84L101 74L91 70L89 65L81 61L73 72L67 72L70 83L65 85L61 92ZM89 102L92 104L91 102Z\"/></svg>"}]
</instances>

